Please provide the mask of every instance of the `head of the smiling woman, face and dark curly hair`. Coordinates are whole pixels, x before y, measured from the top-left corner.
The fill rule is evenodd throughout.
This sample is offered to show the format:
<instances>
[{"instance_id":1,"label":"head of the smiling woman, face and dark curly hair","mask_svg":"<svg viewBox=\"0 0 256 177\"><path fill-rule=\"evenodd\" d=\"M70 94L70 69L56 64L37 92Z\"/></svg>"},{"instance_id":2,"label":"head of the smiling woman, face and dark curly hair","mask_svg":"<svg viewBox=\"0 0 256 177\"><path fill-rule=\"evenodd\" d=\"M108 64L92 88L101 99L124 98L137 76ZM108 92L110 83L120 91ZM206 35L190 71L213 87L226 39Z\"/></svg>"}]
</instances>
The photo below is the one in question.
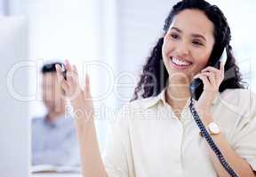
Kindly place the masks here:
<instances>
[{"instance_id":1,"label":"head of the smiling woman, face and dark curly hair","mask_svg":"<svg viewBox=\"0 0 256 177\"><path fill-rule=\"evenodd\" d=\"M211 12L211 9L202 11L204 9L203 6L200 7L199 5L199 8L196 8L196 10L194 8L194 11L193 8L184 10L186 9L185 7L177 6L169 14L167 19L165 19L164 35L158 39L156 46L151 51L151 56L148 57L148 61L143 66L143 72L132 100L138 99L139 97L157 96L166 86L166 81L168 81L167 78L170 76L170 73L173 73L171 66L178 70L181 69L183 72L176 73L175 77L169 77L169 80L171 78L172 80L179 78L177 76L183 79L184 76L189 77L189 80L191 80L191 77L200 72L206 65L216 63L224 47L228 49L228 61L225 65L225 70L233 70L233 72L231 72L232 74L229 73L226 75L227 79L220 85L220 92L228 88L244 88L241 73L236 65L232 47L229 43L231 35L228 21L222 12L217 14L218 11ZM182 8L184 11L180 12ZM175 16L178 13L179 15ZM191 65L177 65L178 62L183 62L184 64L185 61L187 61L187 64L191 63ZM166 70L164 68L159 69L163 63ZM156 78L148 77L149 72L154 73L153 75ZM189 82L189 80L187 81ZM153 82L156 86L148 87ZM198 88L196 95L202 89L202 86Z\"/></svg>"}]
</instances>

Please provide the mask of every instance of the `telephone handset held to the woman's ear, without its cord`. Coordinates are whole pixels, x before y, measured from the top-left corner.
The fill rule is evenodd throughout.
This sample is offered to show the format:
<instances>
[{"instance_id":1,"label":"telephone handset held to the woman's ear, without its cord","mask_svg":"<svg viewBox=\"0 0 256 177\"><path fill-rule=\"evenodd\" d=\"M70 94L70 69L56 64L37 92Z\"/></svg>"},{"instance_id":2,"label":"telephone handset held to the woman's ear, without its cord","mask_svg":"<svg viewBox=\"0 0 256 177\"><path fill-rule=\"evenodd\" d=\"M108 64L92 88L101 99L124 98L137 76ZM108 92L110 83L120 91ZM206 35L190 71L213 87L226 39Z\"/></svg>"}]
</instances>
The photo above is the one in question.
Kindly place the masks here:
<instances>
[{"instance_id":1,"label":"telephone handset held to the woman's ear, without its cord","mask_svg":"<svg viewBox=\"0 0 256 177\"><path fill-rule=\"evenodd\" d=\"M227 50L226 50L226 48L223 50L220 59L218 61L216 61L216 63L213 64L212 66L219 69L220 68L220 61L223 61L224 65L225 65L225 63L227 61ZM197 93L196 93L196 89L198 90ZM191 82L191 84L189 85L190 94L196 100L198 100L199 97L201 96L201 94L203 92L203 89L204 89L203 81L200 80L199 78L193 80Z\"/></svg>"}]
</instances>

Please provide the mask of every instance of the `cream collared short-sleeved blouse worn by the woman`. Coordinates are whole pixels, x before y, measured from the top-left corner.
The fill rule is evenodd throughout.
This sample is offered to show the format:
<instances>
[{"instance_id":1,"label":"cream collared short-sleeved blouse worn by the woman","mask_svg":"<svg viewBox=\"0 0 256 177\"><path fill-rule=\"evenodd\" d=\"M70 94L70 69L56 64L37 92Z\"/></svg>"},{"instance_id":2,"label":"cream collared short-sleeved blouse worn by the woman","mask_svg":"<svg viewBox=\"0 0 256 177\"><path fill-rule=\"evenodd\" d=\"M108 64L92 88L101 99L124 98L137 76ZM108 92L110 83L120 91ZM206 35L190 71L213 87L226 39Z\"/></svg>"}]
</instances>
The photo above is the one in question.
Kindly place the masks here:
<instances>
[{"instance_id":1,"label":"cream collared short-sleeved blouse worn by the woman","mask_svg":"<svg viewBox=\"0 0 256 177\"><path fill-rule=\"evenodd\" d=\"M111 125L103 156L108 177L216 177L189 103L180 119L166 103L165 90L124 106ZM227 89L213 101L211 112L230 146L256 171L255 94Z\"/></svg>"}]
</instances>

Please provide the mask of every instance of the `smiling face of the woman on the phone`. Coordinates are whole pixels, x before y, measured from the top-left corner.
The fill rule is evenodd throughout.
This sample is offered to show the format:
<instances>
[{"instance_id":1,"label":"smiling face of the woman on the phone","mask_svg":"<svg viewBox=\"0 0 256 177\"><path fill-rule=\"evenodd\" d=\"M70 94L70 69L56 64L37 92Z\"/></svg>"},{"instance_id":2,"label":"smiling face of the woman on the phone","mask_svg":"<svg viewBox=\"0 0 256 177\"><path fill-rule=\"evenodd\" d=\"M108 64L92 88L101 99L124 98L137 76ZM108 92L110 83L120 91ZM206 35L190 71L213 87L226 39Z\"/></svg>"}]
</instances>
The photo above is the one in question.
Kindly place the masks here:
<instances>
[{"instance_id":1,"label":"smiling face of the woman on the phone","mask_svg":"<svg viewBox=\"0 0 256 177\"><path fill-rule=\"evenodd\" d=\"M199 10L184 10L164 36L162 55L169 78L190 81L208 63L214 44L213 24Z\"/></svg>"}]
</instances>

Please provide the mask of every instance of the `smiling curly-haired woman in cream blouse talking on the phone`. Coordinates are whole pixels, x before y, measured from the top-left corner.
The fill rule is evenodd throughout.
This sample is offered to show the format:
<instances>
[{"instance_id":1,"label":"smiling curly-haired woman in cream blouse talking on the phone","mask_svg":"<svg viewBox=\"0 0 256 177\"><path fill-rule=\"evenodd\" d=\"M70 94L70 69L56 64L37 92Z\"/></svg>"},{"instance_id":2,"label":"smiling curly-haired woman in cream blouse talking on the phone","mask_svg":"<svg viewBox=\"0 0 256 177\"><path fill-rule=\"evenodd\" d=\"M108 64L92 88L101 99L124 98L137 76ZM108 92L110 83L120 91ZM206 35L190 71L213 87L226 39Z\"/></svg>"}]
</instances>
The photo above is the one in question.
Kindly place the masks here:
<instances>
[{"instance_id":1,"label":"smiling curly-haired woman in cream blouse talking on the phone","mask_svg":"<svg viewBox=\"0 0 256 177\"><path fill-rule=\"evenodd\" d=\"M209 127L213 141L237 175L255 176L256 97L244 89L230 38L228 22L217 6L204 0L174 5L143 67L132 99L136 101L117 114L102 159L88 76L80 89L76 66L67 62L66 81L57 66L65 92L78 93L71 104L84 176L228 176L188 109L189 84L196 78L203 81L196 89L196 111L205 127L220 127ZM212 67L224 49L226 65Z\"/></svg>"}]
</instances>

